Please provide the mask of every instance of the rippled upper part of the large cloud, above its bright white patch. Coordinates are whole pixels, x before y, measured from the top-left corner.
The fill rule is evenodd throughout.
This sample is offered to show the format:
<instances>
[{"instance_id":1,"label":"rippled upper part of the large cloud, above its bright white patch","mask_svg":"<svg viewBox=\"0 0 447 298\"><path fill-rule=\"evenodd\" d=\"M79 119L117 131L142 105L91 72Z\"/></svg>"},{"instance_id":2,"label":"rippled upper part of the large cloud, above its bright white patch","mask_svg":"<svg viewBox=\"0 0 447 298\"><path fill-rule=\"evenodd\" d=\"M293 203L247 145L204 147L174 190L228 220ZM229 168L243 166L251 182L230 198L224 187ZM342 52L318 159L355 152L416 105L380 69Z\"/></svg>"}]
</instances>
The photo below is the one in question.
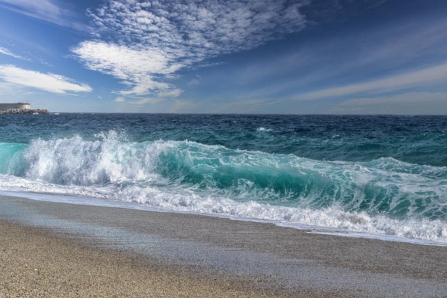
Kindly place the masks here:
<instances>
[{"instance_id":1,"label":"rippled upper part of the large cloud, above its bright white patch","mask_svg":"<svg viewBox=\"0 0 447 298\"><path fill-rule=\"evenodd\" d=\"M110 0L91 14L103 32L129 45L158 48L191 62L258 47L304 29L302 3L285 0Z\"/></svg>"}]
</instances>

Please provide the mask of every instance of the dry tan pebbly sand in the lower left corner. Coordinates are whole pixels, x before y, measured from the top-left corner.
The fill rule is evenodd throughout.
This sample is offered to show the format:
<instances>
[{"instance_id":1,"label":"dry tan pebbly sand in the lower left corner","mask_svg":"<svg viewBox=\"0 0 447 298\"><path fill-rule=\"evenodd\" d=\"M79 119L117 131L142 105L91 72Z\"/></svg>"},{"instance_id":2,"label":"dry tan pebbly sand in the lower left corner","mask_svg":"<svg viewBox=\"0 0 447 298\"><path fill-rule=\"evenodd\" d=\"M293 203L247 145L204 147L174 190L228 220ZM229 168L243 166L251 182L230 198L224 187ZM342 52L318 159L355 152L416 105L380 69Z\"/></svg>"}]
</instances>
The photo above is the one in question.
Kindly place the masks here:
<instances>
[{"instance_id":1,"label":"dry tan pebbly sand in the lower left corner","mask_svg":"<svg viewBox=\"0 0 447 298\"><path fill-rule=\"evenodd\" d=\"M282 297L0 221L0 297ZM218 279L219 278L219 279Z\"/></svg>"}]
</instances>

